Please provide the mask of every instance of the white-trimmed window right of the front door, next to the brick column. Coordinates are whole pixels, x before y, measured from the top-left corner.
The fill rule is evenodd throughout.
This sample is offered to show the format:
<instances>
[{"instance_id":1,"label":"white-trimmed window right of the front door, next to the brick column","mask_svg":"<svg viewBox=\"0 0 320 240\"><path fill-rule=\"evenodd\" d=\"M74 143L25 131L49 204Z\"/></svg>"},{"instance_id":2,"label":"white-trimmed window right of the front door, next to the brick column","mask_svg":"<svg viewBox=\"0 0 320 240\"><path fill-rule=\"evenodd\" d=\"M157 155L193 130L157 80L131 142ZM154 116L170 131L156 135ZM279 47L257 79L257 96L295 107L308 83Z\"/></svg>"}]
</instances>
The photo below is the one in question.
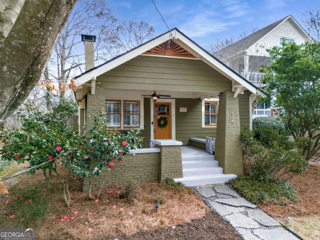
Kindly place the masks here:
<instances>
[{"instance_id":1,"label":"white-trimmed window right of the front door, next to the brick column","mask_svg":"<svg viewBox=\"0 0 320 240\"><path fill-rule=\"evenodd\" d=\"M216 127L218 98L202 99L202 127Z\"/></svg>"}]
</instances>

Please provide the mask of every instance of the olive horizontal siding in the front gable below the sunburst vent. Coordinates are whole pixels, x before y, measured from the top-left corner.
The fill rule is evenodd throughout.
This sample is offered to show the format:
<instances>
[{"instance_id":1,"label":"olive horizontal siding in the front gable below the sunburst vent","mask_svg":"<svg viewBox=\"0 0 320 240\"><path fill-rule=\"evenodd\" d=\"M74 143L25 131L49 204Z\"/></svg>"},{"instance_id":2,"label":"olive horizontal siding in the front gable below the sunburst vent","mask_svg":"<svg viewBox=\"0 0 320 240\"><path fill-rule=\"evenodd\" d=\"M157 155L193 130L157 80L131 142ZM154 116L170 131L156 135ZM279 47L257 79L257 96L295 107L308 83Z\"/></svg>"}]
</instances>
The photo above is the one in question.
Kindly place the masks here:
<instances>
[{"instance_id":1,"label":"olive horizontal siding in the front gable below the sunburst vent","mask_svg":"<svg viewBox=\"0 0 320 240\"><path fill-rule=\"evenodd\" d=\"M195 59L137 56L97 77L107 88L221 92L231 81ZM105 82L105 84L103 84Z\"/></svg>"}]
</instances>

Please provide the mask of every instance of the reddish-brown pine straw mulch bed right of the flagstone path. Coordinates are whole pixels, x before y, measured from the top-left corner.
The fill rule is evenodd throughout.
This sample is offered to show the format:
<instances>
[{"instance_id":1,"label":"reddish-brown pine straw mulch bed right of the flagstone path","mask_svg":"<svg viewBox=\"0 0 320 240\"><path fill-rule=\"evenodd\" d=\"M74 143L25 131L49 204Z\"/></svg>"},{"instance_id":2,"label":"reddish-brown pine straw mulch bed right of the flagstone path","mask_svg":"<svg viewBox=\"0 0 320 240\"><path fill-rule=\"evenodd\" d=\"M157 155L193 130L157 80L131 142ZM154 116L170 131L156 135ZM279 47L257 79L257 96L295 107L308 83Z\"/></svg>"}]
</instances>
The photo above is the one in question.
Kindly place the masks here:
<instances>
[{"instance_id":1,"label":"reddish-brown pine straw mulch bed right of the flagstone path","mask_svg":"<svg viewBox=\"0 0 320 240\"><path fill-rule=\"evenodd\" d=\"M259 205L266 213L277 217L307 216L320 213L320 162L309 161L307 169L294 176L289 182L298 192L299 201L279 205Z\"/></svg>"}]
</instances>

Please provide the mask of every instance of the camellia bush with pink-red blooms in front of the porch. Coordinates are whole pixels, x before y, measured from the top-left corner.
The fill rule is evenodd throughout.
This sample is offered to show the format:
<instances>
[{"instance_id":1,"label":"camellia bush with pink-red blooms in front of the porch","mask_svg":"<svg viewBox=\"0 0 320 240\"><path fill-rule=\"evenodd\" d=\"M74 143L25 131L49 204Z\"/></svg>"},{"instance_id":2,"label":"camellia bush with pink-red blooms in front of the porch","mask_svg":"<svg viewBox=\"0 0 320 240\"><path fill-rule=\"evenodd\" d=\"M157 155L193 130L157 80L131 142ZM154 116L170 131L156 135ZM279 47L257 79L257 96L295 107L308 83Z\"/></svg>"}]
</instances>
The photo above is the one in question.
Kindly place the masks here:
<instances>
[{"instance_id":1,"label":"camellia bush with pink-red blooms in front of the porch","mask_svg":"<svg viewBox=\"0 0 320 240\"><path fill-rule=\"evenodd\" d=\"M131 149L141 146L139 127L127 132L109 129L102 112L92 117L93 126L89 132L79 135L67 125L68 117L77 111L74 102L62 100L50 113L41 112L32 102L25 105L27 114L21 117L22 126L0 131L1 159L17 163L27 161L31 168L29 172L33 174L41 169L48 184L53 183L51 173L54 172L63 186L67 206L70 204L68 184L71 175L90 180L93 175L105 175L116 162L123 160L124 155L131 154ZM64 179L57 164L67 168ZM90 189L89 197L92 198Z\"/></svg>"}]
</instances>

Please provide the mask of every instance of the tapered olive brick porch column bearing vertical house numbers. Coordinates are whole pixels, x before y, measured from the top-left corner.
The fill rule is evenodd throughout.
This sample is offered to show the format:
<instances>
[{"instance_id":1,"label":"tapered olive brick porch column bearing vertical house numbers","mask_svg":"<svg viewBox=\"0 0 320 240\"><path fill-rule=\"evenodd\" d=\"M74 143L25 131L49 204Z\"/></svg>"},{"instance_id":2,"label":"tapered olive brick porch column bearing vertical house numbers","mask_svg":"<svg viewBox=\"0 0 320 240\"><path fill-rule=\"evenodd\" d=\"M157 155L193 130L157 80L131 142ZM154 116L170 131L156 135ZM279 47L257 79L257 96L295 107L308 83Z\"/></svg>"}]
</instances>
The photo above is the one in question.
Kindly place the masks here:
<instances>
[{"instance_id":1,"label":"tapered olive brick porch column bearing vertical house numbers","mask_svg":"<svg viewBox=\"0 0 320 240\"><path fill-rule=\"evenodd\" d=\"M223 173L243 174L239 103L232 91L220 92L214 159Z\"/></svg>"}]
</instances>

